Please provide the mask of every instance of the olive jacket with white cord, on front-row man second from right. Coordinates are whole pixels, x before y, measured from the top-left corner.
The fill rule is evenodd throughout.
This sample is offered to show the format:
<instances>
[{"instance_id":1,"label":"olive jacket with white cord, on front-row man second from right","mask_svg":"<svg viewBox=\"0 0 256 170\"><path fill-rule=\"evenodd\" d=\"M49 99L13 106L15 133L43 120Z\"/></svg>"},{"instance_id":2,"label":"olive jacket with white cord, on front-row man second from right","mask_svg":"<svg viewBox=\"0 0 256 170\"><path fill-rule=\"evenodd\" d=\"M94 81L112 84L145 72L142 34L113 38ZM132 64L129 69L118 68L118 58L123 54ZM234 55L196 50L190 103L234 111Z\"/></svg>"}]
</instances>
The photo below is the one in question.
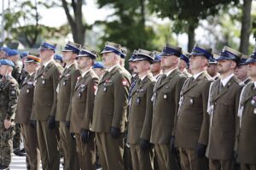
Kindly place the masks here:
<instances>
[{"instance_id":1,"label":"olive jacket with white cord, on front-row man second from right","mask_svg":"<svg viewBox=\"0 0 256 170\"><path fill-rule=\"evenodd\" d=\"M210 125L207 146L207 156L211 159L233 159L237 109L242 88L240 82L236 77L231 77L220 91L220 80L212 82L209 98L214 109L210 117L212 126Z\"/></svg>"}]
</instances>

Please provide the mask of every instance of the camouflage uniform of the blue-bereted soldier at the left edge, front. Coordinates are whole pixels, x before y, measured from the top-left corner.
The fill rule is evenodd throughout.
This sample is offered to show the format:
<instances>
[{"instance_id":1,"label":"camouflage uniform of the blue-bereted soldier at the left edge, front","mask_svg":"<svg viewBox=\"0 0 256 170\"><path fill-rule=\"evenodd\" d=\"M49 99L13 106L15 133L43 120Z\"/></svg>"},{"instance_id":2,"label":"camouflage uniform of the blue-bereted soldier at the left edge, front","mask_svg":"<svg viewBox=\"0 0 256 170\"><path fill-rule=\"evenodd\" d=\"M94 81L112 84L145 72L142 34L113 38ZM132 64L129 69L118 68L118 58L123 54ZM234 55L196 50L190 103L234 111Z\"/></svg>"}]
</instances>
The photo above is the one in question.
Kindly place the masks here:
<instances>
[{"instance_id":1,"label":"camouflage uniform of the blue-bereted soldier at the left edge, front","mask_svg":"<svg viewBox=\"0 0 256 170\"><path fill-rule=\"evenodd\" d=\"M9 166L15 135L15 110L19 84L14 77L3 77L0 80L0 164ZM5 129L4 120L11 120L11 127Z\"/></svg>"}]
</instances>

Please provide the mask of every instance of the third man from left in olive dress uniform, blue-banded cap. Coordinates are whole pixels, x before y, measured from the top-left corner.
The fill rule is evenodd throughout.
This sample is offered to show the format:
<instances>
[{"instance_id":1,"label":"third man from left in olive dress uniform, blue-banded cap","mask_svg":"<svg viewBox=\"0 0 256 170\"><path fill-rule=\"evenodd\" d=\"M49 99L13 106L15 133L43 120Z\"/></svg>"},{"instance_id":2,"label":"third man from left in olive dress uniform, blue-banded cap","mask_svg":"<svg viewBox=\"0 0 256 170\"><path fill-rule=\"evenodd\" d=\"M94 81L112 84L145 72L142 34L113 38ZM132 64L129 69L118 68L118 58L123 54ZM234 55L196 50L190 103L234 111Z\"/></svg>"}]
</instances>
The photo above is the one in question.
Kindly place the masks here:
<instances>
[{"instance_id":1,"label":"third man from left in olive dress uniform, blue-banded cap","mask_svg":"<svg viewBox=\"0 0 256 170\"><path fill-rule=\"evenodd\" d=\"M74 42L67 42L62 49L63 60L66 62L66 67L61 74L60 81L57 87L57 106L55 120L60 122L59 132L61 139L61 148L64 153L64 168L66 170L79 169L79 156L76 152L76 143L69 133L71 105L70 101L73 97L73 91L80 71L77 68L75 59L80 52L81 45Z\"/></svg>"}]
</instances>

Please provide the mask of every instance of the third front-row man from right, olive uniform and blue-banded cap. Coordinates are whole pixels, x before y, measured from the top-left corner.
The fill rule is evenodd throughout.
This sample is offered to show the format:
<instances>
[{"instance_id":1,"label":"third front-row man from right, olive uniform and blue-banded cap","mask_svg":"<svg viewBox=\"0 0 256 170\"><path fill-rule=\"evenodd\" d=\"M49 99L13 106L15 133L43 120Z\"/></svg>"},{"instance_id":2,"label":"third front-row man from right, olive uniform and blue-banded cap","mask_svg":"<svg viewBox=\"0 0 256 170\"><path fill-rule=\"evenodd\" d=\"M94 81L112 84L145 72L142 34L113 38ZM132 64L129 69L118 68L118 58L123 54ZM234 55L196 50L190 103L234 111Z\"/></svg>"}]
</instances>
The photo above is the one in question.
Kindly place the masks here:
<instances>
[{"instance_id":1,"label":"third front-row man from right, olive uniform and blue-banded cap","mask_svg":"<svg viewBox=\"0 0 256 170\"><path fill-rule=\"evenodd\" d=\"M212 77L207 74L208 59L212 58L212 48L197 45L189 55L189 68L193 73L183 85L173 137L178 148L182 169L207 169L205 156L208 138L207 99Z\"/></svg>"}]
</instances>

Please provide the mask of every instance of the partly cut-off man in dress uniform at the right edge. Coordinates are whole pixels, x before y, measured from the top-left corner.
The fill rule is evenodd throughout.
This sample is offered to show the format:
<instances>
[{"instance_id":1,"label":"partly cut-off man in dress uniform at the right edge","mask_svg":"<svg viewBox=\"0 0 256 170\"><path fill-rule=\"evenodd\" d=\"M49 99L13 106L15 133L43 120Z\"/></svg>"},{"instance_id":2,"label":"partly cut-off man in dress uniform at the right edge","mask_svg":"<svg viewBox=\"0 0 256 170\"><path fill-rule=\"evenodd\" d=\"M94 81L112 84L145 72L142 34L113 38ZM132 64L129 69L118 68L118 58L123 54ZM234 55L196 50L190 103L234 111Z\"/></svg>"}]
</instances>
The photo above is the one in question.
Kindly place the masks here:
<instances>
[{"instance_id":1,"label":"partly cut-off man in dress uniform at the right edge","mask_svg":"<svg viewBox=\"0 0 256 170\"><path fill-rule=\"evenodd\" d=\"M253 170L256 169L256 48L246 63L248 76L252 78L252 82L241 90L237 113L240 122L236 151L241 170Z\"/></svg>"}]
</instances>

